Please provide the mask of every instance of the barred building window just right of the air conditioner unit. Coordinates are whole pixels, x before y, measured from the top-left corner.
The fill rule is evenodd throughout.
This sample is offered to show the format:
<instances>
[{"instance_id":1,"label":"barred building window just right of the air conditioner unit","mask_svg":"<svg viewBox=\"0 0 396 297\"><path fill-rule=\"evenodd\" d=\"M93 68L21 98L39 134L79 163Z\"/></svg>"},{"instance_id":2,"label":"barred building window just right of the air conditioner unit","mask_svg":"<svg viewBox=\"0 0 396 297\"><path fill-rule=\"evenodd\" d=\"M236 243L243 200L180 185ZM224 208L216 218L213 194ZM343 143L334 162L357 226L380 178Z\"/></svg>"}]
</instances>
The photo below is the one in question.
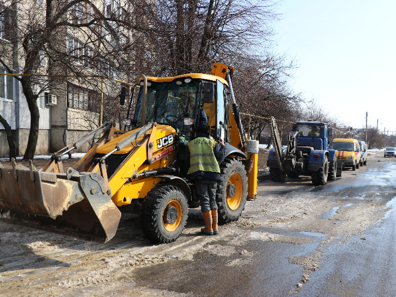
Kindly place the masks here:
<instances>
[{"instance_id":1,"label":"barred building window just right of the air conditioner unit","mask_svg":"<svg viewBox=\"0 0 396 297\"><path fill-rule=\"evenodd\" d=\"M67 106L95 111L99 95L97 92L67 83Z\"/></svg>"}]
</instances>

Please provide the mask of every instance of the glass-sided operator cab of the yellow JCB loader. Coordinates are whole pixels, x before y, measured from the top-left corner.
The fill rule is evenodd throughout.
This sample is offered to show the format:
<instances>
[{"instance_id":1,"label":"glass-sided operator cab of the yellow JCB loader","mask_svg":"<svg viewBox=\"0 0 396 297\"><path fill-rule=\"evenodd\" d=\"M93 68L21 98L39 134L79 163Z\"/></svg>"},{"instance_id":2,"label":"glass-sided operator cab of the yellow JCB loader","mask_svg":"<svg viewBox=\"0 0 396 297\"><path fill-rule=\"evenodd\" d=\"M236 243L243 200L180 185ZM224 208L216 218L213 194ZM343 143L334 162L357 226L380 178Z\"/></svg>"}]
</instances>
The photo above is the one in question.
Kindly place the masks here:
<instances>
[{"instance_id":1,"label":"glass-sided operator cab of the yellow JCB loader","mask_svg":"<svg viewBox=\"0 0 396 297\"><path fill-rule=\"evenodd\" d=\"M226 81L220 81L212 75L205 75L205 79L194 76L198 75L190 74L176 78L148 77L144 124L156 122L170 125L176 129L179 136L190 141L196 136L196 122L199 110L203 108L208 118L210 135L214 139L221 137L224 142L229 142L230 92ZM140 85L143 85L143 81ZM142 126L143 89L140 88L136 101L131 121L133 129Z\"/></svg>"}]
</instances>

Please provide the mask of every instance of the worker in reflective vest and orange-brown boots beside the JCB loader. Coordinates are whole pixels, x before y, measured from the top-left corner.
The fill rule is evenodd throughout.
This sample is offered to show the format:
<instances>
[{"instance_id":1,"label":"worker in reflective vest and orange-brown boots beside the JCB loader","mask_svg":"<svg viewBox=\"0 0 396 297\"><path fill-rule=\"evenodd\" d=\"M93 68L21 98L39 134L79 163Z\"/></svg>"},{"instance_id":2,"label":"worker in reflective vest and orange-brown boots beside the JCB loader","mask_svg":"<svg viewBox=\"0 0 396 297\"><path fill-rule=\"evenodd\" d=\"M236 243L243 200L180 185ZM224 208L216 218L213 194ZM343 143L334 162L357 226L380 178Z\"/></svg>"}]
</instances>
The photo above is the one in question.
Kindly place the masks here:
<instances>
[{"instance_id":1,"label":"worker in reflective vest and orange-brown boots beside the JCB loader","mask_svg":"<svg viewBox=\"0 0 396 297\"><path fill-rule=\"evenodd\" d=\"M217 181L220 177L218 160L226 153L223 140L217 142L209 137L208 121L203 108L200 110L197 137L186 148L185 169L188 180L195 184L200 200L205 227L201 233L218 234L218 216L216 204Z\"/></svg>"}]
</instances>

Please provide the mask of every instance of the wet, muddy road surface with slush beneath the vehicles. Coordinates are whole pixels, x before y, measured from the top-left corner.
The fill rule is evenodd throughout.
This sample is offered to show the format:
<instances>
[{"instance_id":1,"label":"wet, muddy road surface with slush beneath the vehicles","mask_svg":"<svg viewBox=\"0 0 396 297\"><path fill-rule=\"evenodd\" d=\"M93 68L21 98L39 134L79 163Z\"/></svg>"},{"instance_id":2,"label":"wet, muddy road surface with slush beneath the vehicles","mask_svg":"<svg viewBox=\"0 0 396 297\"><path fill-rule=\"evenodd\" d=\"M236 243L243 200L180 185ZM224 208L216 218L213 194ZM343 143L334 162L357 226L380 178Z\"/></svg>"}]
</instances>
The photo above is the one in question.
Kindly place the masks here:
<instances>
[{"instance_id":1,"label":"wet, muddy road surface with slush beneath the vehicles","mask_svg":"<svg viewBox=\"0 0 396 297\"><path fill-rule=\"evenodd\" d=\"M380 161L378 161L380 160ZM99 245L0 219L0 296L395 296L396 158L312 186L262 181L239 221L153 245L123 215Z\"/></svg>"}]
</instances>

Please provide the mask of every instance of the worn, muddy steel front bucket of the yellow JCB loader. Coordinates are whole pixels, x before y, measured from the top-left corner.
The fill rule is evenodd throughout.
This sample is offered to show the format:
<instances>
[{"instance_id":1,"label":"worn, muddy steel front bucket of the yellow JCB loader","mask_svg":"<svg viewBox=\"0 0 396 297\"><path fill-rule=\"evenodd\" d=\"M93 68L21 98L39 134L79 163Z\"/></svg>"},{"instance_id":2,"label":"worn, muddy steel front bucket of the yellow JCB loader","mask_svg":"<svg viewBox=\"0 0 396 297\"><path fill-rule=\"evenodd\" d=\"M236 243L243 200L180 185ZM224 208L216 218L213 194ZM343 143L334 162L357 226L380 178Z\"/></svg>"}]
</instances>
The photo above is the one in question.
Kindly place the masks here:
<instances>
[{"instance_id":1,"label":"worn, muddy steel front bucket of the yellow JCB loader","mask_svg":"<svg viewBox=\"0 0 396 297\"><path fill-rule=\"evenodd\" d=\"M99 243L115 235L121 212L99 174L18 168L0 168L1 219Z\"/></svg>"}]
</instances>

